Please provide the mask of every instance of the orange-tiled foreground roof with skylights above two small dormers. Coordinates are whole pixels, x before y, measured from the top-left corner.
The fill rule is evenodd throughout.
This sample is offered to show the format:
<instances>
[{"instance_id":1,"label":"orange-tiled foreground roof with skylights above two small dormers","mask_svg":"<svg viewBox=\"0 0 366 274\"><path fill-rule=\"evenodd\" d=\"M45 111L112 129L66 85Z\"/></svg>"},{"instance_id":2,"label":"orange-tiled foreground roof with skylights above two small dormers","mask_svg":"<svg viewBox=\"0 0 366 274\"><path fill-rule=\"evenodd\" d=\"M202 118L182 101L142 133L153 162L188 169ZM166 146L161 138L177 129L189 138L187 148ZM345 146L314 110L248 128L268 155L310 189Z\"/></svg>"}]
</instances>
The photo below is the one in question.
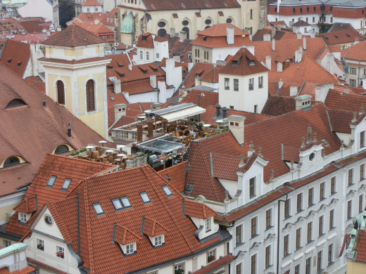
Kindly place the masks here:
<instances>
[{"instance_id":1,"label":"orange-tiled foreground roof with skylights above two small dormers","mask_svg":"<svg viewBox=\"0 0 366 274\"><path fill-rule=\"evenodd\" d=\"M184 197L169 184L172 195L168 197L162 188L163 185L167 185L167 182L149 166L127 169L84 180L70 193L68 204L56 202L49 209L57 226L63 228L62 235L71 235L72 249L79 252L77 235L74 233L77 223L74 209L77 201L76 198L72 198L79 195L80 256L84 267L88 268L91 274L129 273L191 254L219 242L220 237L214 237L203 244L198 242L194 236L197 228L183 214ZM149 195L149 204L142 202L139 195L141 192ZM116 197L128 197L132 207L116 212L111 203ZM101 204L105 214L96 216L92 207L95 202ZM61 212L63 214L60 214ZM123 257L118 244L111 242L114 224L123 223L131 233L141 235L141 229L145 230L143 219L145 224L146 220L149 220L165 228L164 231L157 232L164 233L165 244L153 248L149 237L143 235L137 242L137 254ZM146 226L151 228L149 224ZM106 260L105 254L108 254L110 259ZM139 263L136 263L137 261Z\"/></svg>"}]
</instances>

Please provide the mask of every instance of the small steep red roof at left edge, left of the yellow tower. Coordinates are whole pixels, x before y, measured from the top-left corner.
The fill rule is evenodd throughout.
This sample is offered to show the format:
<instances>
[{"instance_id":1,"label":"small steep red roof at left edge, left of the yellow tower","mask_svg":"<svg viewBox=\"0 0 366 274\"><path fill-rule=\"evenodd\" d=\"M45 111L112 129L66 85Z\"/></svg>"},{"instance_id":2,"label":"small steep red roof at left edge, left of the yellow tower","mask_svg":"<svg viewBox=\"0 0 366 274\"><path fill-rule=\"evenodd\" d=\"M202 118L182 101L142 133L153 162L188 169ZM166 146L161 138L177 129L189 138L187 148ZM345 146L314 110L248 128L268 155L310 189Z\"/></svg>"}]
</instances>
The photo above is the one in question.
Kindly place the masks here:
<instances>
[{"instance_id":1,"label":"small steep red roof at left edge, left of the yellow tower","mask_svg":"<svg viewBox=\"0 0 366 274\"><path fill-rule=\"evenodd\" d=\"M23 77L30 60L30 45L11 39L6 39L5 48L1 54L0 63Z\"/></svg>"}]
</instances>

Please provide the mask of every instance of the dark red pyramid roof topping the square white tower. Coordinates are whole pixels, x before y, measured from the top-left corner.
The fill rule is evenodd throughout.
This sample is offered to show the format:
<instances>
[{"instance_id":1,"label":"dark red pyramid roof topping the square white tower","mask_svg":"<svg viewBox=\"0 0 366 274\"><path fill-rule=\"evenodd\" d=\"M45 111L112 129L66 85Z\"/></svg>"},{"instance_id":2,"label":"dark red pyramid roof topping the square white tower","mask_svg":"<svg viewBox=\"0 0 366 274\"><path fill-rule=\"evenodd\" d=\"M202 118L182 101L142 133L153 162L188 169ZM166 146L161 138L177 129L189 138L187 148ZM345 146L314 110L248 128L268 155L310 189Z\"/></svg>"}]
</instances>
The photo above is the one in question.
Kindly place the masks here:
<instances>
[{"instance_id":1,"label":"dark red pyramid roof topping the square white tower","mask_svg":"<svg viewBox=\"0 0 366 274\"><path fill-rule=\"evenodd\" d=\"M222 67L219 74L251 75L267 71L267 67L262 65L247 48L240 48L232 60Z\"/></svg>"}]
</instances>

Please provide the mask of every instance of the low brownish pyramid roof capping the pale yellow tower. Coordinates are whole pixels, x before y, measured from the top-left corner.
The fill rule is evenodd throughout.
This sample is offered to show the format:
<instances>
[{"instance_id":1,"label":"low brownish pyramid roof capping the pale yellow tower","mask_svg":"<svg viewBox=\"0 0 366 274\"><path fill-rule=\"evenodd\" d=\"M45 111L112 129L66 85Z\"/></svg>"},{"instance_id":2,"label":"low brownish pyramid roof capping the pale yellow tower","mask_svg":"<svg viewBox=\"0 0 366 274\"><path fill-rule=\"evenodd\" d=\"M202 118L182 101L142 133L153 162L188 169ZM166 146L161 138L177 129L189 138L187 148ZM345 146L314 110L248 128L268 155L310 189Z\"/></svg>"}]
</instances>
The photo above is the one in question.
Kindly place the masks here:
<instances>
[{"instance_id":1,"label":"low brownish pyramid roof capping the pale yellow tower","mask_svg":"<svg viewBox=\"0 0 366 274\"><path fill-rule=\"evenodd\" d=\"M51 46L87 46L95 44L104 44L106 41L97 37L96 35L84 30L78 25L70 25L70 27L65 28L62 32L59 32L55 36L43 41L44 45Z\"/></svg>"}]
</instances>

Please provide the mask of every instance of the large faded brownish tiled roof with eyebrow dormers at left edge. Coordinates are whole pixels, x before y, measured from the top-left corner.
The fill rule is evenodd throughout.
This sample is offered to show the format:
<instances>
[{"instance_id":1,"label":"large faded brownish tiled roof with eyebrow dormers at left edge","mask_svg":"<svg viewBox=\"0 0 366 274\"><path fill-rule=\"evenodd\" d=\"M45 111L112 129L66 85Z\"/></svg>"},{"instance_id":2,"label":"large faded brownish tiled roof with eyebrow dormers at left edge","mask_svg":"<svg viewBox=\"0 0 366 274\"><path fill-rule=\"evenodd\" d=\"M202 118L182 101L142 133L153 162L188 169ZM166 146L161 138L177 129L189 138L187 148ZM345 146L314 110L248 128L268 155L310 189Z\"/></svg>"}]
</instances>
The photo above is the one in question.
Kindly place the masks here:
<instances>
[{"instance_id":1,"label":"large faded brownish tiled roof with eyebrow dormers at left edge","mask_svg":"<svg viewBox=\"0 0 366 274\"><path fill-rule=\"evenodd\" d=\"M84 148L88 143L98 143L103 138L86 124L58 105L49 96L34 89L0 65L0 162L12 155L25 159L25 164L0 169L2 187L0 195L15 192L15 188L30 183L47 153L58 145ZM11 100L20 99L25 106L6 109ZM46 107L43 107L45 102ZM15 115L16 114L16 115ZM72 127L72 139L68 138L68 124ZM27 135L20 132L27 131ZM108 143L113 146L112 143Z\"/></svg>"}]
</instances>

